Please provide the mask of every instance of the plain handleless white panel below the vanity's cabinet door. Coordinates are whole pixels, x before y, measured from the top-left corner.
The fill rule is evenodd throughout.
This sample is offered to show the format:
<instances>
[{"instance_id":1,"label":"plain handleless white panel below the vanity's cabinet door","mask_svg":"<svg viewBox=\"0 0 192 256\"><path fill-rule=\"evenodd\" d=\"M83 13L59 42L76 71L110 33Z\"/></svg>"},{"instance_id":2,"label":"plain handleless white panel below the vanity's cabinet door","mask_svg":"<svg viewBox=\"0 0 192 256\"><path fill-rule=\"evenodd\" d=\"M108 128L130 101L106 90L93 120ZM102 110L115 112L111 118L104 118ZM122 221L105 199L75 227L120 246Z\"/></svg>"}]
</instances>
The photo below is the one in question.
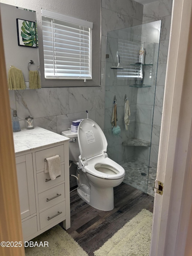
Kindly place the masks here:
<instances>
[{"instance_id":1,"label":"plain handleless white panel below the vanity's cabinet door","mask_svg":"<svg viewBox=\"0 0 192 256\"><path fill-rule=\"evenodd\" d=\"M32 234L35 234L37 230L37 216L30 218L29 220L23 221L22 223L22 232L23 232L23 239Z\"/></svg>"}]
</instances>

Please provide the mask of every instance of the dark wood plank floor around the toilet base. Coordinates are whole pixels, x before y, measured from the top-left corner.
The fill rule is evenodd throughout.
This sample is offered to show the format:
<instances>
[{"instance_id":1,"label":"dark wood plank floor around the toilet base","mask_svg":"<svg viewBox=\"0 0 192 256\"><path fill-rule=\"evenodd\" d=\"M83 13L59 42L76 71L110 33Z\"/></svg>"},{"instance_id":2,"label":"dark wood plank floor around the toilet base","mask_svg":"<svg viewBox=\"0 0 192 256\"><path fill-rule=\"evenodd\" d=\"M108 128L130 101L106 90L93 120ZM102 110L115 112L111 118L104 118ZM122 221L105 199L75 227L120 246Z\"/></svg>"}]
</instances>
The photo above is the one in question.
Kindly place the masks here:
<instances>
[{"instance_id":1,"label":"dark wood plank floor around the toilet base","mask_svg":"<svg viewBox=\"0 0 192 256\"><path fill-rule=\"evenodd\" d=\"M122 183L114 188L114 209L106 212L85 203L75 190L70 193L71 227L67 233L93 256L95 250L141 209L153 212L153 203L154 197Z\"/></svg>"}]
</instances>

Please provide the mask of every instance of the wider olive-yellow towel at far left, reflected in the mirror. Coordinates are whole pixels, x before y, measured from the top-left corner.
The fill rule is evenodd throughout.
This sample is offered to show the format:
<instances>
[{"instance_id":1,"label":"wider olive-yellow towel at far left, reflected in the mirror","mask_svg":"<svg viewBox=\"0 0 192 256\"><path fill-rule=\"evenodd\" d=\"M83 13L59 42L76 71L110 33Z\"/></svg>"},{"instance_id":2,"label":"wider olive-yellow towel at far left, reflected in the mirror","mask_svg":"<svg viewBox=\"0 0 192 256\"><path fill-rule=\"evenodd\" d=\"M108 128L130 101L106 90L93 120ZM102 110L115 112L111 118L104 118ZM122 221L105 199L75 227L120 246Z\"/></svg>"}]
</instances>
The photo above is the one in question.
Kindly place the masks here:
<instances>
[{"instance_id":1,"label":"wider olive-yellow towel at far left, reflected in the mirror","mask_svg":"<svg viewBox=\"0 0 192 256\"><path fill-rule=\"evenodd\" d=\"M8 71L8 87L10 90L23 90L26 88L22 71L14 66L11 66Z\"/></svg>"}]
</instances>

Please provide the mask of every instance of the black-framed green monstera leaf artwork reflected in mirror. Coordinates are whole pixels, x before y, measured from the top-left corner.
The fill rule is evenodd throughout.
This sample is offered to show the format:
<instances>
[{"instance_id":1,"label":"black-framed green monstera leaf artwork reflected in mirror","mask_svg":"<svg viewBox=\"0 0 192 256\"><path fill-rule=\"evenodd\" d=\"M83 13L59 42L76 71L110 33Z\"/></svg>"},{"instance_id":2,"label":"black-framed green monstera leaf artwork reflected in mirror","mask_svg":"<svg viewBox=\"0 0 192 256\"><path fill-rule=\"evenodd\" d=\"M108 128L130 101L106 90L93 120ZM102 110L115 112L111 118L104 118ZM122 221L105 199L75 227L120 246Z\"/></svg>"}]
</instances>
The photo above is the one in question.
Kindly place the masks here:
<instances>
[{"instance_id":1,"label":"black-framed green monstera leaf artwork reflected in mirror","mask_svg":"<svg viewBox=\"0 0 192 256\"><path fill-rule=\"evenodd\" d=\"M19 46L37 47L36 26L34 21L16 19Z\"/></svg>"}]
</instances>

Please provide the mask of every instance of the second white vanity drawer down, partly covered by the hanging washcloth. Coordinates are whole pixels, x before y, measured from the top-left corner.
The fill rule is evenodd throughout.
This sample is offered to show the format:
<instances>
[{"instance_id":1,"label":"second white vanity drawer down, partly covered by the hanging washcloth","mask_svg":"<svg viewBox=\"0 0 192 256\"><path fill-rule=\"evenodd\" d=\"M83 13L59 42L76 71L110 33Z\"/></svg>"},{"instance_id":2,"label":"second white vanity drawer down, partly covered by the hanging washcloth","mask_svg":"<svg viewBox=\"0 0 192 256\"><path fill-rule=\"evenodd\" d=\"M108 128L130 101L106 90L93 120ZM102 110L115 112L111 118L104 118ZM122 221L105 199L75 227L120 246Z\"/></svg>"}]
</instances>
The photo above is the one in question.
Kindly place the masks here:
<instances>
[{"instance_id":1,"label":"second white vanity drawer down, partly covered by the hanging washcloth","mask_svg":"<svg viewBox=\"0 0 192 256\"><path fill-rule=\"evenodd\" d=\"M49 173L44 171L37 173L37 187L38 191L41 191L45 188L49 188L52 185L56 185L59 182L64 181L64 164L61 164L61 176L57 177L54 180L50 179Z\"/></svg>"}]
</instances>

